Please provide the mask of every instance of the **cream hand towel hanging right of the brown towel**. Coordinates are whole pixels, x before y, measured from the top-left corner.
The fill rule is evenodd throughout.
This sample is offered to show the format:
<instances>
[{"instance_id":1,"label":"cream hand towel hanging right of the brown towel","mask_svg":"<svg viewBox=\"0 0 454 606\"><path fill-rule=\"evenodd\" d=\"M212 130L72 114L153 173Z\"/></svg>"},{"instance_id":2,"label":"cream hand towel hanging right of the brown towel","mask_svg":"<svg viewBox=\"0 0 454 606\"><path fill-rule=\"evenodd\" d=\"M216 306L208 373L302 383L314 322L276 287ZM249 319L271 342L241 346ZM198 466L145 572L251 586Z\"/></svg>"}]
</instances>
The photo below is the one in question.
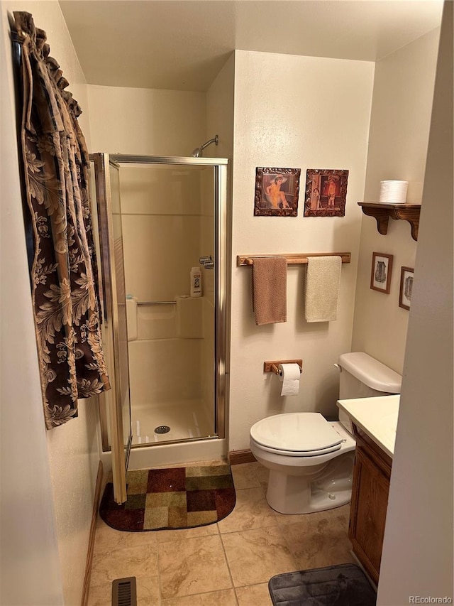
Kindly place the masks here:
<instances>
[{"instance_id":1,"label":"cream hand towel hanging right of the brown towel","mask_svg":"<svg viewBox=\"0 0 454 606\"><path fill-rule=\"evenodd\" d=\"M307 322L337 319L341 267L341 256L309 256L306 270Z\"/></svg>"}]
</instances>

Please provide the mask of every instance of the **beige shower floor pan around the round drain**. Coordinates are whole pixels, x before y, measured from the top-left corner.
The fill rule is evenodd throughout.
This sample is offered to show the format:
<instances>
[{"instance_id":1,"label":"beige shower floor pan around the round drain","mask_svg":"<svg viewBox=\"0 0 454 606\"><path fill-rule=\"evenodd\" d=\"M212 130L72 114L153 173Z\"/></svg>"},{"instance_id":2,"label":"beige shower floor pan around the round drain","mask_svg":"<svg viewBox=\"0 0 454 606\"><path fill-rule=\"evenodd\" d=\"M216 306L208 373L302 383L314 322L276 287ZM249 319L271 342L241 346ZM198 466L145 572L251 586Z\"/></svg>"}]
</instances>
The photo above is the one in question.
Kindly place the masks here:
<instances>
[{"instance_id":1,"label":"beige shower floor pan around the round drain","mask_svg":"<svg viewBox=\"0 0 454 606\"><path fill-rule=\"evenodd\" d=\"M157 404L131 404L133 446L191 440L214 435L214 423L206 418L200 400ZM169 431L155 432L168 426Z\"/></svg>"}]
</instances>

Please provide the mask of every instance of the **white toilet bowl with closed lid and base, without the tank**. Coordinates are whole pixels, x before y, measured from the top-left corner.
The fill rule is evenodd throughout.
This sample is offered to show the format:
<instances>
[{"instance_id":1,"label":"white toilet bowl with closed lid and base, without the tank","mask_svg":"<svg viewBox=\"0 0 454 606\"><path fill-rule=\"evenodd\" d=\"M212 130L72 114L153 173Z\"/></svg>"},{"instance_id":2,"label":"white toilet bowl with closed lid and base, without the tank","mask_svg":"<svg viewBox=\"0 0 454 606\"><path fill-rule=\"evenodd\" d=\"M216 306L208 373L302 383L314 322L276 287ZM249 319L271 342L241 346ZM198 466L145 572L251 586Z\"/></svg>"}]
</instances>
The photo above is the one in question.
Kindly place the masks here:
<instances>
[{"instance_id":1,"label":"white toilet bowl with closed lid and base, without the tank","mask_svg":"<svg viewBox=\"0 0 454 606\"><path fill-rule=\"evenodd\" d=\"M338 421L320 413L267 417L250 429L250 450L270 470L267 502L277 512L306 514L350 502L355 440Z\"/></svg>"}]
</instances>

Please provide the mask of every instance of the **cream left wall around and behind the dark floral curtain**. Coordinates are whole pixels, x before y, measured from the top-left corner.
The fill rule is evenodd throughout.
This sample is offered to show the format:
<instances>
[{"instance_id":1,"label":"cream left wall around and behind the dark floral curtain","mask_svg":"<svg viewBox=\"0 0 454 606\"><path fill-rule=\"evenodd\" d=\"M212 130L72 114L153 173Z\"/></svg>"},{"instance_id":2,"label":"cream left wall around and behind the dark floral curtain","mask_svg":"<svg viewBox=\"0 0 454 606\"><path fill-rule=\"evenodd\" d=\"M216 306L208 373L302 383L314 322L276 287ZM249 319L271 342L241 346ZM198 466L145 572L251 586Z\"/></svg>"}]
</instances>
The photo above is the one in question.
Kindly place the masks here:
<instances>
[{"instance_id":1,"label":"cream left wall around and behind the dark floral curtain","mask_svg":"<svg viewBox=\"0 0 454 606\"><path fill-rule=\"evenodd\" d=\"M26 10L48 35L79 101L87 130L84 75L56 1L1 3L1 603L77 605L82 582L96 470L95 401L79 402L79 417L46 431L18 181L8 13ZM3 173L4 171L4 173ZM20 344L20 345L18 345ZM6 548L7 546L7 548Z\"/></svg>"}]
</instances>

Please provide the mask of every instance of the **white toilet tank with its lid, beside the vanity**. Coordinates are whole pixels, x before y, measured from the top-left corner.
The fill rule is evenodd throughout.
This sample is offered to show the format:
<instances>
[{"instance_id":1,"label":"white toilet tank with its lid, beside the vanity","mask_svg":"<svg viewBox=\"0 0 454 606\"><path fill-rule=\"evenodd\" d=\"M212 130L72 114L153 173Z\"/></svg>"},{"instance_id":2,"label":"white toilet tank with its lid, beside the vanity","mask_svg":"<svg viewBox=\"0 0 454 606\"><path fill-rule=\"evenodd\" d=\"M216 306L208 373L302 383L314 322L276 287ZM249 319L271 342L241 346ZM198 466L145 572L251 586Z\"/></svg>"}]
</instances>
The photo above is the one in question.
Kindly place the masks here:
<instances>
[{"instance_id":1,"label":"white toilet tank with its lid, beside the vanity","mask_svg":"<svg viewBox=\"0 0 454 606\"><path fill-rule=\"evenodd\" d=\"M364 352L342 354L338 366L340 400L400 394L401 375ZM343 411L339 411L339 421L353 433L350 419Z\"/></svg>"}]
</instances>

